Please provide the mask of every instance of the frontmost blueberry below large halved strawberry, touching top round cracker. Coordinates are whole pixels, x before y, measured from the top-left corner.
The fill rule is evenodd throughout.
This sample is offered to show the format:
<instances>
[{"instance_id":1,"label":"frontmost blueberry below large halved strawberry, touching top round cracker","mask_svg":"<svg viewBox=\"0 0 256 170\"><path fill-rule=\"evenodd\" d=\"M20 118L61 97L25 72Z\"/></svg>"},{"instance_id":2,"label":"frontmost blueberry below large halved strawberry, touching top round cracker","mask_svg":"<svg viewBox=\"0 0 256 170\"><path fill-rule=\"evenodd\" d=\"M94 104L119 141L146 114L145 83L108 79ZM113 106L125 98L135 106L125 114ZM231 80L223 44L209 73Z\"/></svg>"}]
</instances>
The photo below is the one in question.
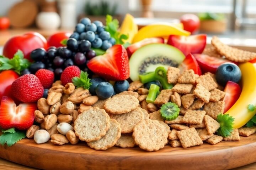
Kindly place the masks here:
<instances>
[{"instance_id":1,"label":"frontmost blueberry below large halved strawberry, touching top round cracker","mask_svg":"<svg viewBox=\"0 0 256 170\"><path fill-rule=\"evenodd\" d=\"M95 92L99 98L107 99L114 94L114 88L112 84L108 82L101 82L100 84L97 85Z\"/></svg>"}]
</instances>

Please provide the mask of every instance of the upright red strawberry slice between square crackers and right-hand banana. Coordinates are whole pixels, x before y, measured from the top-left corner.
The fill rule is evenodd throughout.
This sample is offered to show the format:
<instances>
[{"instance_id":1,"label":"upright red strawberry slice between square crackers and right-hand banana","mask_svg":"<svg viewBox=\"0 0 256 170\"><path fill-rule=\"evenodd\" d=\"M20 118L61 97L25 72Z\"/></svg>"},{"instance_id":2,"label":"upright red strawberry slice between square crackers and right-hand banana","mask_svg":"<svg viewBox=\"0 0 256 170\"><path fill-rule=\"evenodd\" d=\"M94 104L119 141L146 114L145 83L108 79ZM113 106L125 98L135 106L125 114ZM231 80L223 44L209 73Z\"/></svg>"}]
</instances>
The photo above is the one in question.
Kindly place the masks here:
<instances>
[{"instance_id":1,"label":"upright red strawberry slice between square crackers and right-hand banana","mask_svg":"<svg viewBox=\"0 0 256 170\"><path fill-rule=\"evenodd\" d=\"M225 86L224 92L225 92L225 96L223 98L223 101L225 102L224 113L226 113L226 111L228 111L228 109L230 109L238 100L241 94L241 87L239 86L239 84L233 81L228 81L228 83Z\"/></svg>"}]
</instances>

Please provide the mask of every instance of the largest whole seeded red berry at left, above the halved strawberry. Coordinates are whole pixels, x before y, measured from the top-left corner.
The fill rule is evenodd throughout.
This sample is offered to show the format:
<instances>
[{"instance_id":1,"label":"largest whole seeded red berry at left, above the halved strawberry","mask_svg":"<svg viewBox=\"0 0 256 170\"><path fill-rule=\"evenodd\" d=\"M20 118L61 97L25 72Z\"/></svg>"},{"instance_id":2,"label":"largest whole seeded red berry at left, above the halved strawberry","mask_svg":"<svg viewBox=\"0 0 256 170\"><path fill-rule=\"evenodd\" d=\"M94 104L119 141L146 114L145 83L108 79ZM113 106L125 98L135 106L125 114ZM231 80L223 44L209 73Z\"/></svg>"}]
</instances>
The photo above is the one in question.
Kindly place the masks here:
<instances>
[{"instance_id":1,"label":"largest whole seeded red berry at left, above the halved strawberry","mask_svg":"<svg viewBox=\"0 0 256 170\"><path fill-rule=\"evenodd\" d=\"M43 96L43 86L34 74L25 74L12 83L12 95L24 103L37 102Z\"/></svg>"}]
</instances>

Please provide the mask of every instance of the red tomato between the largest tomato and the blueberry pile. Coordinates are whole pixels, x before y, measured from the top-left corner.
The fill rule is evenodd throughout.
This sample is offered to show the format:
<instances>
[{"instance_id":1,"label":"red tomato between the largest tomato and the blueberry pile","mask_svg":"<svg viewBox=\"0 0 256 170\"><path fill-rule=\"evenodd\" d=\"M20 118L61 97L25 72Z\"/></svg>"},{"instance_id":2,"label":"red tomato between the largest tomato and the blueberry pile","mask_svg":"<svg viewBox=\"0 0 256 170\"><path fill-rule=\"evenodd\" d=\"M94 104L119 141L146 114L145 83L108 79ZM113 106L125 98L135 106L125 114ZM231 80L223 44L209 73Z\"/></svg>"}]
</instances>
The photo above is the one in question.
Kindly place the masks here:
<instances>
[{"instance_id":1,"label":"red tomato between the largest tomato and the blueberry pile","mask_svg":"<svg viewBox=\"0 0 256 170\"><path fill-rule=\"evenodd\" d=\"M47 39L48 46L55 46L55 47L63 46L60 42L63 39L68 39L70 35L71 33L69 32L59 32L59 33L53 34L49 36L49 38Z\"/></svg>"}]
</instances>

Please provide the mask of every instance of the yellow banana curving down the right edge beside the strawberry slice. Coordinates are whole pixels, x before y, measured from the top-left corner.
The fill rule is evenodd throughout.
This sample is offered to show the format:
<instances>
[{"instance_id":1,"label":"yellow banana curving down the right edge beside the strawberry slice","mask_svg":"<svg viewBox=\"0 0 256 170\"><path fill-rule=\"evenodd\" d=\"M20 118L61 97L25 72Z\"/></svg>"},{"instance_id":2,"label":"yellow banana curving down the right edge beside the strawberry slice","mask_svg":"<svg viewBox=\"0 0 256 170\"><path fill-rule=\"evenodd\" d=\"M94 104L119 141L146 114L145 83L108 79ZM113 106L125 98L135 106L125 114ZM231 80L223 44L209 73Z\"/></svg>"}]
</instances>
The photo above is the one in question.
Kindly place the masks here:
<instances>
[{"instance_id":1,"label":"yellow banana curving down the right edge beside the strawberry slice","mask_svg":"<svg viewBox=\"0 0 256 170\"><path fill-rule=\"evenodd\" d=\"M241 128L255 114L247 109L248 104L256 106L256 69L252 63L242 63L239 65L242 73L242 92L235 104L225 113L229 114L234 120L233 128Z\"/></svg>"}]
</instances>

